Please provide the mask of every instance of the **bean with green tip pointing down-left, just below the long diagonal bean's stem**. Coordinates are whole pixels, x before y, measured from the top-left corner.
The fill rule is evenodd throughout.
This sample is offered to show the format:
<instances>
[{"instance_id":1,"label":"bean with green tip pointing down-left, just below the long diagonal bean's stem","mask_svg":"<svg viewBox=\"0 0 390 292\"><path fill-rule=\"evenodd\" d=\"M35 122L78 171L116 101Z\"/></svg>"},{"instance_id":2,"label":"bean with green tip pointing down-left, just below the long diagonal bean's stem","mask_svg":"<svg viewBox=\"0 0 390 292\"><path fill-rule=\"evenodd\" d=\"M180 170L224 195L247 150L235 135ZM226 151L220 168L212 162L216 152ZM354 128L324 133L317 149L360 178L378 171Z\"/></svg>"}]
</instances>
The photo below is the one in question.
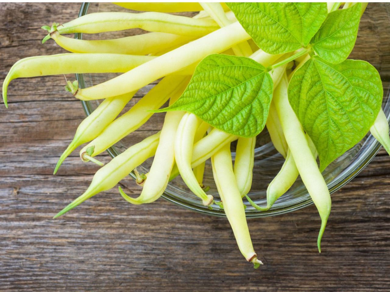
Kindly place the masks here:
<instances>
[{"instance_id":1,"label":"bean with green tip pointing down-left, just below the long diagonal bean's stem","mask_svg":"<svg viewBox=\"0 0 390 292\"><path fill-rule=\"evenodd\" d=\"M81 144L95 139L104 128L121 113L122 109L134 94L135 92L131 92L103 100L103 102L101 102L101 104L99 104L99 106L80 123L76 130L76 134L74 134L73 141L69 144L64 153L62 153L53 174L57 173L62 162L64 162L66 157L68 157L73 150Z\"/></svg>"}]
</instances>

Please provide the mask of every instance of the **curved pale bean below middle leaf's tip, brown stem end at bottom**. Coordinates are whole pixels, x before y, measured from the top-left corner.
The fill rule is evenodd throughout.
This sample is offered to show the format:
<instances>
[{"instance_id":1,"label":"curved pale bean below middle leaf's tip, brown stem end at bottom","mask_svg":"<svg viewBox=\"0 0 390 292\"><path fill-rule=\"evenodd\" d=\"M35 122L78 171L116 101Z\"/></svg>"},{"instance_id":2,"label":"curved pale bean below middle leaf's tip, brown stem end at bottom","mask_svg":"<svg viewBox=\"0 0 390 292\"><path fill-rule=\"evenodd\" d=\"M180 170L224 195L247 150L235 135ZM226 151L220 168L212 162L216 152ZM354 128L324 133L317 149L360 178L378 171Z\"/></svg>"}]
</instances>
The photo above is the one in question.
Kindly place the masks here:
<instances>
[{"instance_id":1,"label":"curved pale bean below middle leaf's tip, brown stem end at bottom","mask_svg":"<svg viewBox=\"0 0 390 292\"><path fill-rule=\"evenodd\" d=\"M205 206L208 206L213 202L213 196L207 195L204 190L202 190L191 169L193 141L199 125L200 120L195 114L184 114L176 131L174 152L177 169L179 169L181 178L188 188L202 199L202 203Z\"/></svg>"}]
</instances>

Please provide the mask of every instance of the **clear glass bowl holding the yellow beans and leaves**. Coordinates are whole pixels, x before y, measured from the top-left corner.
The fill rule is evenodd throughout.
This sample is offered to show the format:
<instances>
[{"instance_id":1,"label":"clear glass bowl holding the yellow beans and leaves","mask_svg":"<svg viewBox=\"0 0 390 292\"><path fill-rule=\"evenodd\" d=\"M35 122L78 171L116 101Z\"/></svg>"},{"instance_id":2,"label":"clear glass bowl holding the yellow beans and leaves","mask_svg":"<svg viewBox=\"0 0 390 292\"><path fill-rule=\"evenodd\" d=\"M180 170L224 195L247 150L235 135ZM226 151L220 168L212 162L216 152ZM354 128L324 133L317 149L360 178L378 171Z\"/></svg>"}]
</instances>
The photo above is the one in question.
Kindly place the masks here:
<instances>
[{"instance_id":1,"label":"clear glass bowl holding the yellow beans and leaves","mask_svg":"<svg viewBox=\"0 0 390 292\"><path fill-rule=\"evenodd\" d=\"M390 47L389 8L390 4L386 3L370 3L368 5L360 23L356 46L350 56L352 59L366 60L378 69L383 81L384 97L382 107L386 116L390 115L390 102L388 99L390 76L390 55L388 53L388 48ZM83 3L79 16L91 12L103 11L129 10L109 3ZM189 12L184 15L191 16L194 15L194 13ZM80 39L109 39L139 33L144 33L144 31L140 29L133 29L94 35L82 35L81 33L78 33L75 37ZM77 74L76 78L79 81L79 86L81 88L85 88L111 79L117 75L119 74ZM135 102L137 102L152 86L153 85L149 85L140 89L137 95L135 95L135 97L133 97L133 99L129 102L124 111L128 110L129 106L135 104ZM99 101L82 101L82 105L85 113L89 115L99 105ZM129 146L142 141L142 139L151 134L158 132L158 130L161 129L163 118L163 113L154 114L151 119L145 123L145 125L109 148L108 153L112 157L115 157L122 151L126 150ZM266 129L264 129L264 131L257 137L256 146L253 184L248 195L258 205L265 206L267 186L280 170L284 162L284 158L273 147ZM339 188L353 179L360 171L362 171L363 168L369 164L372 158L374 158L376 153L378 153L380 147L380 144L374 139L374 137L367 134L359 144L330 164L323 172L323 176L328 184L330 193L336 192ZM235 143L232 143L233 160L235 156L234 150ZM148 159L144 164L140 165L140 167L137 167L138 171L149 171L151 162L152 159ZM133 173L130 175L135 178ZM131 180L125 179L123 181L125 186L130 183L134 184ZM211 189L208 193L213 195L215 198L219 198L213 181L211 163L209 160L206 162L204 185L210 186ZM200 199L190 192L180 177L177 177L168 184L162 197L167 201L199 213L214 216L225 216L223 210L221 210L217 205L214 205L212 210L203 206ZM305 186L303 185L301 179L298 178L290 190L280 197L268 211L260 212L254 209L248 202L245 202L247 207L245 212L248 218L273 216L292 212L309 206L312 203L313 202L310 199Z\"/></svg>"}]
</instances>

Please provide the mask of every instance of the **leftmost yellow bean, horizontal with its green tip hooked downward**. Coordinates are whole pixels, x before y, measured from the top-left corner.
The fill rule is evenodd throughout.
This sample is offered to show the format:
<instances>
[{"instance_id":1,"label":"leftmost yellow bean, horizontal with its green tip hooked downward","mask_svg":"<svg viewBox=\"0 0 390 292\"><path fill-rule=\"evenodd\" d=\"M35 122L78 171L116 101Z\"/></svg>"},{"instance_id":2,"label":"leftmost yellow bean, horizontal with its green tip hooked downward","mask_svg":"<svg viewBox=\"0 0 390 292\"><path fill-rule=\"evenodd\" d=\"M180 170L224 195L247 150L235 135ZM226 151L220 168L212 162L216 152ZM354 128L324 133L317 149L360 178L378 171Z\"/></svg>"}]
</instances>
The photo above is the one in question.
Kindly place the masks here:
<instances>
[{"instance_id":1,"label":"leftmost yellow bean, horizontal with its green tip hooked downward","mask_svg":"<svg viewBox=\"0 0 390 292\"><path fill-rule=\"evenodd\" d=\"M122 73L156 57L122 54L57 54L34 56L12 65L3 82L3 100L7 105L7 88L16 78L71 73Z\"/></svg>"}]
</instances>

